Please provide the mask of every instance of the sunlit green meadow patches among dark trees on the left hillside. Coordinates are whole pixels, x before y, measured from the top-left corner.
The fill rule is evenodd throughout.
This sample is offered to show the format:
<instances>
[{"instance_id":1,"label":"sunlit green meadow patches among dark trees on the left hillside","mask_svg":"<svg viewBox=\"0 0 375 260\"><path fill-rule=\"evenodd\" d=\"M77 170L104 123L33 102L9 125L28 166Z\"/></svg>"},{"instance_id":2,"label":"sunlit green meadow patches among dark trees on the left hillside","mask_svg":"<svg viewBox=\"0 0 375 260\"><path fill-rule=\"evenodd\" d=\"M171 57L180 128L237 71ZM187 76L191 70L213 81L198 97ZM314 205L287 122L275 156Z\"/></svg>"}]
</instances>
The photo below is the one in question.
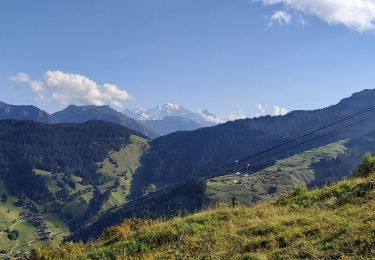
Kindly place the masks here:
<instances>
[{"instance_id":1,"label":"sunlit green meadow patches among dark trees on the left hillside","mask_svg":"<svg viewBox=\"0 0 375 260\"><path fill-rule=\"evenodd\" d=\"M117 189L117 191L111 192L111 196L108 202L104 204L102 213L108 211L115 205L120 206L126 202L125 197L130 193L132 174L140 165L139 160L141 155L146 151L146 149L148 149L148 142L146 139L138 136L131 136L130 139L131 143L129 145L121 149L119 152L111 152L109 155L109 157L112 157L118 161L118 167L114 167L114 165L112 165L108 159L103 162L104 167L102 171L105 175L110 177L110 181L106 183L106 185L99 186L98 188L102 192L105 192L113 186L114 179L116 177L120 178L120 187ZM127 172L126 179L122 176L122 172L124 171ZM44 182L50 192L56 193L61 190L58 182L63 182L62 174L53 174L38 169L35 169L35 174L44 177ZM76 188L71 189L70 194L74 194L79 192L80 190L92 187L91 185L83 186L81 184L82 179L77 176L74 176L74 181L76 184ZM124 187L126 188L123 189L121 185L124 185ZM12 227L12 222L19 217L19 214L21 212L25 210L22 207L14 206L13 203L17 201L17 198L9 195L4 182L0 180L0 195L3 194L3 192L6 192L8 194L8 201L7 203L0 202L0 229ZM38 205L38 209L40 212L44 212L44 210L47 210L48 212L43 213L43 216L48 229L55 233L55 237L52 240L53 245L57 246L63 240L63 238L70 233L68 228L69 221L64 219L64 217L62 216L64 216L66 212L70 212L73 216L70 221L80 218L88 209L89 203L92 198L93 192L85 192L72 202L60 202L62 205L60 213L50 212L52 209L52 203L44 203ZM10 210L9 213L7 213L8 209ZM35 246L46 244L45 242L42 243L38 241L37 235L35 233L35 228L27 222L22 222L20 224L14 225L11 230L13 229L17 229L20 232L19 239L10 241L7 238L6 233L0 233L0 250L4 250L8 253L10 252L10 250L12 250L12 252L18 250L27 251Z\"/></svg>"}]
</instances>

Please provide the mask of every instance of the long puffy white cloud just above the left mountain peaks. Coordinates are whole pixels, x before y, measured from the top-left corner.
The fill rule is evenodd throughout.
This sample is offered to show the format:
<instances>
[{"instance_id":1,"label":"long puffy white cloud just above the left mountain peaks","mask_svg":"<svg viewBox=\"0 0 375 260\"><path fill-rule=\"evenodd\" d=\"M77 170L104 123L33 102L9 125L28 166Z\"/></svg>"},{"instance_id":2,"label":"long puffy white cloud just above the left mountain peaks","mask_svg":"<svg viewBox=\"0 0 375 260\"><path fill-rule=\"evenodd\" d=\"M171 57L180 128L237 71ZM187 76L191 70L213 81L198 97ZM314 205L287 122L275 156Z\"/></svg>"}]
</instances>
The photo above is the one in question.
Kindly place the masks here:
<instances>
[{"instance_id":1,"label":"long puffy white cloud just above the left mountain peaks","mask_svg":"<svg viewBox=\"0 0 375 260\"><path fill-rule=\"evenodd\" d=\"M64 105L111 105L120 109L131 98L116 85L100 85L83 75L62 71L47 71L41 81L31 80L26 73L18 73L11 80L28 84L39 98L46 97Z\"/></svg>"}]
</instances>

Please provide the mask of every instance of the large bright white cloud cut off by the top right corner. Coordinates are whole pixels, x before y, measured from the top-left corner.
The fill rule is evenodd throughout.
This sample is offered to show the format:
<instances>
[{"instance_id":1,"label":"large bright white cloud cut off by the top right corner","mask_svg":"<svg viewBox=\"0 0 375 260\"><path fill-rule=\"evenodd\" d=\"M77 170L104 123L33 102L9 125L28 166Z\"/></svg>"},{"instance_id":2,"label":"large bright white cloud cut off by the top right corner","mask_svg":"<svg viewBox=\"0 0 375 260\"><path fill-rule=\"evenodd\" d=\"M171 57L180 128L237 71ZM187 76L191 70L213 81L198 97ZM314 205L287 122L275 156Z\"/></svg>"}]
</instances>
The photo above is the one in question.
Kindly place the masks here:
<instances>
[{"instance_id":1,"label":"large bright white cloud cut off by the top right corner","mask_svg":"<svg viewBox=\"0 0 375 260\"><path fill-rule=\"evenodd\" d=\"M375 29L375 0L262 0L314 15L329 24L341 24L364 32Z\"/></svg>"}]
</instances>

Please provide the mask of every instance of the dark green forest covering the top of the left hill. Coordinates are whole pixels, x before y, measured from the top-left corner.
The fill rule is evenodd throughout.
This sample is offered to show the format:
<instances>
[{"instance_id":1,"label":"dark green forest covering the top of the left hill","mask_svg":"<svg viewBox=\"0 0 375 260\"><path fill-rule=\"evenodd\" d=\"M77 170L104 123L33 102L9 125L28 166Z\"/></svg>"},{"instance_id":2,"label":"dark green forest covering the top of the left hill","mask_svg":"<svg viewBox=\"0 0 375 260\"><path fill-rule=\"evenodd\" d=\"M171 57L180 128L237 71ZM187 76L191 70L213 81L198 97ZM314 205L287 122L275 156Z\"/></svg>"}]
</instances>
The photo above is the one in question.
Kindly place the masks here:
<instances>
[{"instance_id":1,"label":"dark green forest covering the top of the left hill","mask_svg":"<svg viewBox=\"0 0 375 260\"><path fill-rule=\"evenodd\" d=\"M0 175L14 194L33 200L49 198L41 176L33 169L82 177L99 185L104 176L96 162L109 151L129 144L133 130L102 121L47 125L32 121L0 121ZM69 182L67 182L69 183Z\"/></svg>"}]
</instances>

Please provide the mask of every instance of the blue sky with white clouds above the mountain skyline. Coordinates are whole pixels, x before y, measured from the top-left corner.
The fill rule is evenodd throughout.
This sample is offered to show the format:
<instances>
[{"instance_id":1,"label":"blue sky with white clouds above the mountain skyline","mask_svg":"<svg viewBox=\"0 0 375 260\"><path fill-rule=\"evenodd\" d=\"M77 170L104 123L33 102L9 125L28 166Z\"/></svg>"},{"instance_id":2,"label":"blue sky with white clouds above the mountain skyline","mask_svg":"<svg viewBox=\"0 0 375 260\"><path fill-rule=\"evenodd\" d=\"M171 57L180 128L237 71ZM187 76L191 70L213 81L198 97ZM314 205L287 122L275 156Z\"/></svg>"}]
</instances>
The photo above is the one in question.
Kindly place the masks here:
<instances>
[{"instance_id":1,"label":"blue sky with white clouds above the mountain skyline","mask_svg":"<svg viewBox=\"0 0 375 260\"><path fill-rule=\"evenodd\" d=\"M49 112L321 108L375 88L375 1L329 2L4 0L0 100Z\"/></svg>"}]
</instances>

